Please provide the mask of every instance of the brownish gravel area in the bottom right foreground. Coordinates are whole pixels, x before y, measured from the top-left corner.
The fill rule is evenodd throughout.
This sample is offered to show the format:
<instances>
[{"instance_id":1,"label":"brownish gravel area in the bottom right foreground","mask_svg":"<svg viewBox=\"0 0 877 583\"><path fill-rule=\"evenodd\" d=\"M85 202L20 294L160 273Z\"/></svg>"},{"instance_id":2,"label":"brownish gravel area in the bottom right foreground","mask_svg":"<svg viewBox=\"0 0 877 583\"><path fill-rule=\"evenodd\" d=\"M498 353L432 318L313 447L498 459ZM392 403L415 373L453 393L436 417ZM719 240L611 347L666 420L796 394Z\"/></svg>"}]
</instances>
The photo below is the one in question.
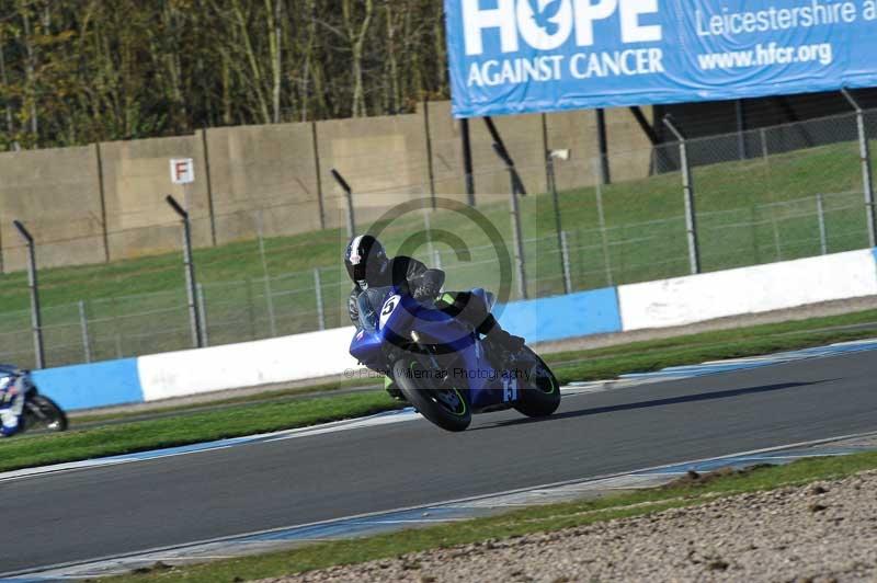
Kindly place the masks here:
<instances>
[{"instance_id":1,"label":"brownish gravel area in the bottom right foreground","mask_svg":"<svg viewBox=\"0 0 877 583\"><path fill-rule=\"evenodd\" d=\"M877 472L267 581L877 581Z\"/></svg>"}]
</instances>

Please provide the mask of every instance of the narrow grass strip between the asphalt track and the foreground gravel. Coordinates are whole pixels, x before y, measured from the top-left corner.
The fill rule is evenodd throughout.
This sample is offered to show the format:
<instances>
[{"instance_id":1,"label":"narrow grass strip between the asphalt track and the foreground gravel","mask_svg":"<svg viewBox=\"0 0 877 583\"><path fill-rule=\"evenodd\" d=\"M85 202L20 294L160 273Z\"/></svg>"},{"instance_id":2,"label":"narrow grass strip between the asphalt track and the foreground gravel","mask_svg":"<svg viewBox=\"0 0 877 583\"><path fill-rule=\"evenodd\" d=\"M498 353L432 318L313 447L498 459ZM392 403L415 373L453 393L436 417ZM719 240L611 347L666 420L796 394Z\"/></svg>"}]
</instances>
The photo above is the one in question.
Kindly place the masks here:
<instances>
[{"instance_id":1,"label":"narrow grass strip between the asphalt track and the foreground gravel","mask_svg":"<svg viewBox=\"0 0 877 583\"><path fill-rule=\"evenodd\" d=\"M800 485L817 480L842 478L874 468L877 468L877 453L811 458L788 466L759 467L751 471L719 476L715 479L703 480L703 483L684 482L612 495L595 501L534 506L487 518L368 538L321 542L257 557L185 568L157 565L152 569L144 569L143 571L146 572L106 581L213 583L282 576L315 569L399 557L434 548L553 531L614 518L651 514L673 507L693 506L716 496L764 491L784 485Z\"/></svg>"}]
</instances>

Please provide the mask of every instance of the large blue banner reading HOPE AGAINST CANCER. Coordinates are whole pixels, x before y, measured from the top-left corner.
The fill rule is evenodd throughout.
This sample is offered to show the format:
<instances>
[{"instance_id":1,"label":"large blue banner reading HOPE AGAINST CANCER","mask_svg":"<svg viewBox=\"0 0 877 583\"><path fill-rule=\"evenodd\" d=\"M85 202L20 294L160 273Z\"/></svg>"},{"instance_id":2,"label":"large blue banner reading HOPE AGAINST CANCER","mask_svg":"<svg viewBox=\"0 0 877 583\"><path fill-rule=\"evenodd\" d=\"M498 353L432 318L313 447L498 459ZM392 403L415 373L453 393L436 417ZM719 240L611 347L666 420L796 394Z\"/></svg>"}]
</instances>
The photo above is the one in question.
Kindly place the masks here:
<instances>
[{"instance_id":1,"label":"large blue banner reading HOPE AGAINST CANCER","mask_svg":"<svg viewBox=\"0 0 877 583\"><path fill-rule=\"evenodd\" d=\"M877 0L445 0L457 117L877 85Z\"/></svg>"}]
</instances>

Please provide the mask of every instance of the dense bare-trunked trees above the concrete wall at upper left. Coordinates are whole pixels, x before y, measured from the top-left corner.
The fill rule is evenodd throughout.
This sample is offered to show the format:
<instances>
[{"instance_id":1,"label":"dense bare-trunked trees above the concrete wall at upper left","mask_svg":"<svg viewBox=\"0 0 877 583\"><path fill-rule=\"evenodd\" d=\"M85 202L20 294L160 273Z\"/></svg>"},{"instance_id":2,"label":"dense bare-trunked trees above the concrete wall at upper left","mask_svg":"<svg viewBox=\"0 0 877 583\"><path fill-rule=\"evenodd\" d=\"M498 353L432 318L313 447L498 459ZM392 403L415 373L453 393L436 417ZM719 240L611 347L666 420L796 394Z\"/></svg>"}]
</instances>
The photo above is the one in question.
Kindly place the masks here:
<instances>
[{"instance_id":1,"label":"dense bare-trunked trees above the concrete wall at upper left","mask_svg":"<svg viewBox=\"0 0 877 583\"><path fill-rule=\"evenodd\" d=\"M411 111L440 0L0 0L0 147Z\"/></svg>"}]
</instances>

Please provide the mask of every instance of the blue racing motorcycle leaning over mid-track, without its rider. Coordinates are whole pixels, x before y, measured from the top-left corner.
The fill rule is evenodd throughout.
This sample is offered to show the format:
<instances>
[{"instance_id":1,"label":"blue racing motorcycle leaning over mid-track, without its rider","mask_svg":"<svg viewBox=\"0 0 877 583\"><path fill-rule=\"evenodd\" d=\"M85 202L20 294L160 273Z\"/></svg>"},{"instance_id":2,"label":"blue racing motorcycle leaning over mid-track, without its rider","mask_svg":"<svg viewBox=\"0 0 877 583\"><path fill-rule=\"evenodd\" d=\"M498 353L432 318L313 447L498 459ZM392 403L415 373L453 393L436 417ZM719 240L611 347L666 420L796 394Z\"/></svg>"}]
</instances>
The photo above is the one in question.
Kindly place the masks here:
<instances>
[{"instance_id":1,"label":"blue racing motorcycle leaning over mid-track, without its rider","mask_svg":"<svg viewBox=\"0 0 877 583\"><path fill-rule=\"evenodd\" d=\"M483 289L471 293L492 306ZM542 418L560 405L557 378L528 346L509 354L392 286L364 290L357 306L360 331L350 354L390 377L408 402L444 430L466 430L474 414L515 409Z\"/></svg>"}]
</instances>

